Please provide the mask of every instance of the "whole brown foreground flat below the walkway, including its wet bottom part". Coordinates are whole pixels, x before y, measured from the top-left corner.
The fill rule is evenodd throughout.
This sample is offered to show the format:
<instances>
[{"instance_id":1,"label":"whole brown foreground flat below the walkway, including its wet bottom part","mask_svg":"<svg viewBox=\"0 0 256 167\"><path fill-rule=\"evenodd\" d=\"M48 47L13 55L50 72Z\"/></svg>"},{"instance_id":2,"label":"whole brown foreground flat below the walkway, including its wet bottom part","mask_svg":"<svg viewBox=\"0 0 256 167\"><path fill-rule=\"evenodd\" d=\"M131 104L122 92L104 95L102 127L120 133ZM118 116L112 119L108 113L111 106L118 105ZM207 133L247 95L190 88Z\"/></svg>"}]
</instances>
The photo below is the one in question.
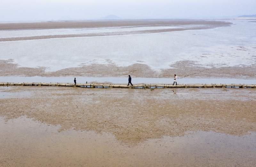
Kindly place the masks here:
<instances>
[{"instance_id":1,"label":"whole brown foreground flat below the walkway, including its wet bottom part","mask_svg":"<svg viewBox=\"0 0 256 167\"><path fill-rule=\"evenodd\" d=\"M0 164L255 166L256 90L173 90L0 87Z\"/></svg>"}]
</instances>

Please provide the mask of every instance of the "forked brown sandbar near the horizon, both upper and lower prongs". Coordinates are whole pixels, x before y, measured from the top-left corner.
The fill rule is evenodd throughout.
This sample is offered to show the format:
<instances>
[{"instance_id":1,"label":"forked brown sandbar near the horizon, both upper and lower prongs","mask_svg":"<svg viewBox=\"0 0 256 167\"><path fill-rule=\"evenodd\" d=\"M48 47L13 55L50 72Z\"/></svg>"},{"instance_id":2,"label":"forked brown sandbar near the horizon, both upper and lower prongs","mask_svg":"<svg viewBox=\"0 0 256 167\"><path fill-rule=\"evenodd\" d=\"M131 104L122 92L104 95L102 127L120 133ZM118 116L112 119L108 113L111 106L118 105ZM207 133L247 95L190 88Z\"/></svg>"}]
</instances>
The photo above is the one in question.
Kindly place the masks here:
<instances>
[{"instance_id":1,"label":"forked brown sandbar near the horizon, both upper and lower prongs","mask_svg":"<svg viewBox=\"0 0 256 167\"><path fill-rule=\"evenodd\" d=\"M37 23L2 23L0 31L6 30L43 30L43 29L63 29L63 28L131 28L131 27L160 27L160 26L180 26L191 25L184 28L169 28L156 30L141 30L141 31L124 31L124 32L109 32L109 33L84 33L84 34L66 34L66 35L42 35L31 37L9 37L0 38L1 41L17 41L17 40L39 40L50 38L71 38L71 37L95 37L109 35L128 35L128 34L143 34L143 33L163 33L172 31L184 30L201 30L217 27L230 26L232 23L210 20L179 20L179 19L150 19L150 20L89 20L89 21L50 21ZM197 25L196 27L193 27Z\"/></svg>"}]
</instances>

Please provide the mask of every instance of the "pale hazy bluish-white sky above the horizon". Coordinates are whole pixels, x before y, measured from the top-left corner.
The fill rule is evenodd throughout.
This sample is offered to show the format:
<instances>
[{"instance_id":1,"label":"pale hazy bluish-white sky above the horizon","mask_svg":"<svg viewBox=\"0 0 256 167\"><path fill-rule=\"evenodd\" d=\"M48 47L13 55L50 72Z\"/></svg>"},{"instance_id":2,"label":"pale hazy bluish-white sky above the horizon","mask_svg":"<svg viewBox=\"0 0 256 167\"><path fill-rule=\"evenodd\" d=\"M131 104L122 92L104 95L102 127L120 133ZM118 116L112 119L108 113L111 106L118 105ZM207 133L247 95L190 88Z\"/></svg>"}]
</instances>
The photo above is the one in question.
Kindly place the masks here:
<instances>
[{"instance_id":1,"label":"pale hazy bluish-white sky above the horizon","mask_svg":"<svg viewBox=\"0 0 256 167\"><path fill-rule=\"evenodd\" d=\"M110 14L120 18L236 17L256 14L256 0L0 0L0 21L95 19Z\"/></svg>"}]
</instances>

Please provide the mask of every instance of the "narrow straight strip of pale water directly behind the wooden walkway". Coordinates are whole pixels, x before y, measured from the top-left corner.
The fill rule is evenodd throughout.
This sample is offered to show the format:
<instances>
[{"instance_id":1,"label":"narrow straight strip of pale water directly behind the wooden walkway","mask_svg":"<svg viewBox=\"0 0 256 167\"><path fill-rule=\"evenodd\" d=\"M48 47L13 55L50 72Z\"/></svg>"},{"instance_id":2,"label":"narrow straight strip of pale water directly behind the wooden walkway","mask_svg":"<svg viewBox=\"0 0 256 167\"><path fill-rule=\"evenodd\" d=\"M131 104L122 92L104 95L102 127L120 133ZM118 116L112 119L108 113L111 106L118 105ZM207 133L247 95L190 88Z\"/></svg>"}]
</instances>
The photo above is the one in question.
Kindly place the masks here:
<instances>
[{"instance_id":1,"label":"narrow straight strip of pale water directly behind the wooden walkway","mask_svg":"<svg viewBox=\"0 0 256 167\"><path fill-rule=\"evenodd\" d=\"M10 83L73 83L74 77L13 77L4 76L0 77L0 82ZM115 83L126 84L128 78L124 77L76 77L76 83ZM178 78L178 84L256 84L255 80L245 79L223 79L223 78ZM132 78L133 84L146 83L146 84L171 84L172 78Z\"/></svg>"}]
</instances>

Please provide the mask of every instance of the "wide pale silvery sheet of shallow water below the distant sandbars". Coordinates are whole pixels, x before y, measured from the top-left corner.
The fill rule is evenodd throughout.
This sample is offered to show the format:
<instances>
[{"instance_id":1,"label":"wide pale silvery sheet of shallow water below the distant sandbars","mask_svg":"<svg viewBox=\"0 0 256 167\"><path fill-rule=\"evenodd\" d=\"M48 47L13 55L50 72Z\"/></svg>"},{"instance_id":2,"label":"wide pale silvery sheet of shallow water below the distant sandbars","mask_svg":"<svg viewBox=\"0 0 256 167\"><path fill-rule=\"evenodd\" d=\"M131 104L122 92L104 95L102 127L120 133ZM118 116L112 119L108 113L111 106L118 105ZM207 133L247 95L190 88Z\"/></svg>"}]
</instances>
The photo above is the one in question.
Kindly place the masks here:
<instances>
[{"instance_id":1,"label":"wide pale silvery sheet of shallow water below the distant sandbars","mask_svg":"<svg viewBox=\"0 0 256 167\"><path fill-rule=\"evenodd\" d=\"M20 67L48 67L47 71L110 62L142 63L156 70L184 60L216 67L255 64L256 24L223 21L234 24L208 30L0 42L0 59L14 59Z\"/></svg>"}]
</instances>

